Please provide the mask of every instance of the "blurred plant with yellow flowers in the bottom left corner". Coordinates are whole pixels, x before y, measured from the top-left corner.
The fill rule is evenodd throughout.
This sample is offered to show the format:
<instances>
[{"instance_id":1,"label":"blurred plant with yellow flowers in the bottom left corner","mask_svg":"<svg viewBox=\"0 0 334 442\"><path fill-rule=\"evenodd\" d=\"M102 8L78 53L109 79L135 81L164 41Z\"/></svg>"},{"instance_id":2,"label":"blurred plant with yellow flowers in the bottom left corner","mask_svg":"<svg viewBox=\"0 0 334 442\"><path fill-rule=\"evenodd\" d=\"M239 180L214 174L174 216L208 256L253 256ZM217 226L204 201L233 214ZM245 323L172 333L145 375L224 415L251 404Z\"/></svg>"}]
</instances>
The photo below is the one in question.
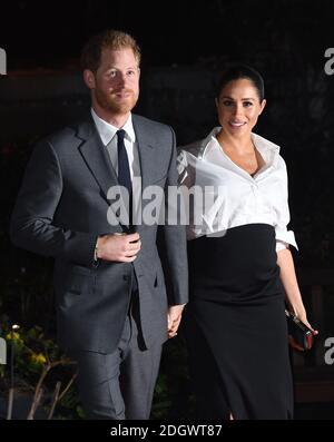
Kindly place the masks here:
<instances>
[{"instance_id":1,"label":"blurred plant with yellow flowers in the bottom left corner","mask_svg":"<svg viewBox=\"0 0 334 442\"><path fill-rule=\"evenodd\" d=\"M82 419L73 385L77 373L69 370L75 362L61 353L55 341L39 326L24 330L10 326L8 321L1 321L1 334L10 352L8 369L0 366L0 393L6 395L8 391L7 419L12 419L14 396L22 394L31 396L28 420L35 419L38 407L48 420Z\"/></svg>"}]
</instances>

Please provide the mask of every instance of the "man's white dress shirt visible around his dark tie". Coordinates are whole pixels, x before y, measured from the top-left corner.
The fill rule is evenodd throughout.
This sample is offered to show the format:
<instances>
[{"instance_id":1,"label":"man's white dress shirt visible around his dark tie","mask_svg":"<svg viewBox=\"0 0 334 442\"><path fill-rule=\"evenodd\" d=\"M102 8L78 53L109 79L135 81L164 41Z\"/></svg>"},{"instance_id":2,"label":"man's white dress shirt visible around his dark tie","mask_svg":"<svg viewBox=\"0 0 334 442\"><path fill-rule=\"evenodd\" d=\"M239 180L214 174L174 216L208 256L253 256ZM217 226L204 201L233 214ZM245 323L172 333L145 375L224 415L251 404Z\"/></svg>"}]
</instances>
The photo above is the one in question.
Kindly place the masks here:
<instances>
[{"instance_id":1,"label":"man's white dress shirt visible around his dark tie","mask_svg":"<svg viewBox=\"0 0 334 442\"><path fill-rule=\"evenodd\" d=\"M116 132L120 129L116 126L110 125L100 118L94 109L91 109L91 116L98 134L101 138L102 144L108 150L112 167L118 175L118 150L117 150L117 135ZM131 181L132 181L132 202L134 202L134 219L139 209L140 196L141 196L141 173L140 173L140 160L138 144L136 141L136 132L132 125L131 114L127 122L121 127L125 130L125 148L128 155Z\"/></svg>"}]
</instances>

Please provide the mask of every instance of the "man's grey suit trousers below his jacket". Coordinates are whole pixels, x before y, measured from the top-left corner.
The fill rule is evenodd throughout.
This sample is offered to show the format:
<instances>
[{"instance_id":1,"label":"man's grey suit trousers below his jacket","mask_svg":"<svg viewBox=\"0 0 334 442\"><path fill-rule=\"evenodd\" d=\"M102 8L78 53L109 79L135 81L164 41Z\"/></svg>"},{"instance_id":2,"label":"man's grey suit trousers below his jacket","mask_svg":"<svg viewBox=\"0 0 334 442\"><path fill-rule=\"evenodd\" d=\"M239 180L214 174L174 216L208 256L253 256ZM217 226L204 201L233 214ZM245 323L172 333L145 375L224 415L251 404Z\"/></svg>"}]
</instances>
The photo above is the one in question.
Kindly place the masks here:
<instances>
[{"instance_id":1,"label":"man's grey suit trousers below his jacket","mask_svg":"<svg viewBox=\"0 0 334 442\"><path fill-rule=\"evenodd\" d=\"M110 354L80 352L79 394L88 419L147 420L161 356L161 344L143 344L138 306L131 303L118 347Z\"/></svg>"}]
</instances>

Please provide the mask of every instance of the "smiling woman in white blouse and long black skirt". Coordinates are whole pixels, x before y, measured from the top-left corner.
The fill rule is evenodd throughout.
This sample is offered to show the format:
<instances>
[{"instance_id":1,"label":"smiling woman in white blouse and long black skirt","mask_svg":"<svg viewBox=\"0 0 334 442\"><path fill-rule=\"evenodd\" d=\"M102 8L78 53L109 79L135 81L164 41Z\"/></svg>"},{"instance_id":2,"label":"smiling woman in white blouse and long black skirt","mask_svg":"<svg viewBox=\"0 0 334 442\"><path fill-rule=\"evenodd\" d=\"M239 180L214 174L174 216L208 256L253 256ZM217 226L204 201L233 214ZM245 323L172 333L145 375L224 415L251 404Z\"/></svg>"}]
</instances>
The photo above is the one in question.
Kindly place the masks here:
<instances>
[{"instance_id":1,"label":"smiling woman in white blouse and long black skirt","mask_svg":"<svg viewBox=\"0 0 334 442\"><path fill-rule=\"evenodd\" d=\"M178 157L193 194L185 332L202 419L293 416L284 292L310 324L289 252L286 166L278 146L252 132L265 105L257 71L227 69L220 127Z\"/></svg>"}]
</instances>

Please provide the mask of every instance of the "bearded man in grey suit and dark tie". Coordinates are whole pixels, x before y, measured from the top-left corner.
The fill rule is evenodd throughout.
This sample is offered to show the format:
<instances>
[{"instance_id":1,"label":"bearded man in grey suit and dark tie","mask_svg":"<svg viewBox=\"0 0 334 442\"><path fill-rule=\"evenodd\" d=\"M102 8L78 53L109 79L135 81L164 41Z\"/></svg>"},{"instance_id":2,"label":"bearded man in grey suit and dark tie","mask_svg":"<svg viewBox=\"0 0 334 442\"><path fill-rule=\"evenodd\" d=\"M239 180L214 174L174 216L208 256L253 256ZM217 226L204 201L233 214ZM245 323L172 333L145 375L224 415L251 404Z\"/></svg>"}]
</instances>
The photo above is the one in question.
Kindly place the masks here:
<instances>
[{"instance_id":1,"label":"bearded man in grey suit and dark tie","mask_svg":"<svg viewBox=\"0 0 334 442\"><path fill-rule=\"evenodd\" d=\"M138 202L145 209L141 190L166 193L177 181L173 129L131 114L139 62L127 33L109 30L86 45L91 112L37 146L11 223L14 244L56 258L58 336L78 361L90 419L149 418L161 344L176 335L187 302L184 227L161 227L167 298L157 225L131 216ZM134 210L109 223L119 214L108 190L118 185Z\"/></svg>"}]
</instances>

